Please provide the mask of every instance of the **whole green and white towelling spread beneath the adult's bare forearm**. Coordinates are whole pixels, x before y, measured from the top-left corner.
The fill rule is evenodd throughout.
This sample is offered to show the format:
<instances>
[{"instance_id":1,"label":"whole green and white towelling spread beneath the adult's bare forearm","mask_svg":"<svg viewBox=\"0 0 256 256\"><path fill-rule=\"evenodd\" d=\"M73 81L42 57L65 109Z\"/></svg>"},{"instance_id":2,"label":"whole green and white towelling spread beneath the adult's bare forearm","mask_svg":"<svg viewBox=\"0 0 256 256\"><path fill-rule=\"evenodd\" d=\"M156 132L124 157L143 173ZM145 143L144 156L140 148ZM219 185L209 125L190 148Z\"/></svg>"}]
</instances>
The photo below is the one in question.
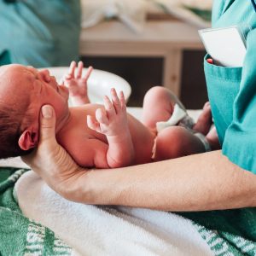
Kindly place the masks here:
<instances>
[{"instance_id":1,"label":"whole green and white towelling spread beneath the adult's bare forearm","mask_svg":"<svg viewBox=\"0 0 256 256\"><path fill-rule=\"evenodd\" d=\"M256 208L177 212L178 216L85 206L64 200L26 171L0 167L1 255L256 255ZM31 218L20 211L14 185L22 212ZM32 220L38 218L41 224Z\"/></svg>"}]
</instances>

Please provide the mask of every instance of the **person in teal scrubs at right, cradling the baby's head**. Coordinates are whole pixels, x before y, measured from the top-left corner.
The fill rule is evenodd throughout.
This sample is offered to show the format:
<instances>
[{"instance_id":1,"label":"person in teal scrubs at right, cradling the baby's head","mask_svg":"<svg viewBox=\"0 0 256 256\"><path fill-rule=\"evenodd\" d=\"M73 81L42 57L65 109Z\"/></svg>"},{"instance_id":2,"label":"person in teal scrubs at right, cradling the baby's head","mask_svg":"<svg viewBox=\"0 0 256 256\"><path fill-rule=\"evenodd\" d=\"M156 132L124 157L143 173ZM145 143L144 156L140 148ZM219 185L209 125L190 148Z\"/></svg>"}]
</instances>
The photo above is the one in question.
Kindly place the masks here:
<instances>
[{"instance_id":1,"label":"person in teal scrubs at right, cradling the baby's head","mask_svg":"<svg viewBox=\"0 0 256 256\"><path fill-rule=\"evenodd\" d=\"M71 201L189 212L256 207L256 13L250 1L214 1L213 27L244 23L251 30L246 34L243 67L205 61L222 150L141 166L86 170L56 143L55 113L44 106L39 147L24 160Z\"/></svg>"}]
</instances>

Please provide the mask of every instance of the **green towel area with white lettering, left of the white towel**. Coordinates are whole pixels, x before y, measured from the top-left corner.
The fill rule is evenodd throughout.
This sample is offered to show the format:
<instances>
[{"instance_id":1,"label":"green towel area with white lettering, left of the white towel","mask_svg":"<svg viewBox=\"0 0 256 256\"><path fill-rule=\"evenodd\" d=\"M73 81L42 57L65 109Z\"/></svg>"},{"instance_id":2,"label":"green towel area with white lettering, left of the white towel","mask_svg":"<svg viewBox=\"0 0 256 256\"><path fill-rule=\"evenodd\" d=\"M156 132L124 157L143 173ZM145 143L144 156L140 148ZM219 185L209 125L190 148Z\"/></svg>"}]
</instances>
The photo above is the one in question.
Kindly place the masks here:
<instances>
[{"instance_id":1,"label":"green towel area with white lettering, left of the white towel","mask_svg":"<svg viewBox=\"0 0 256 256\"><path fill-rule=\"evenodd\" d=\"M13 189L26 169L0 168L0 255L71 255L54 232L20 212Z\"/></svg>"}]
</instances>

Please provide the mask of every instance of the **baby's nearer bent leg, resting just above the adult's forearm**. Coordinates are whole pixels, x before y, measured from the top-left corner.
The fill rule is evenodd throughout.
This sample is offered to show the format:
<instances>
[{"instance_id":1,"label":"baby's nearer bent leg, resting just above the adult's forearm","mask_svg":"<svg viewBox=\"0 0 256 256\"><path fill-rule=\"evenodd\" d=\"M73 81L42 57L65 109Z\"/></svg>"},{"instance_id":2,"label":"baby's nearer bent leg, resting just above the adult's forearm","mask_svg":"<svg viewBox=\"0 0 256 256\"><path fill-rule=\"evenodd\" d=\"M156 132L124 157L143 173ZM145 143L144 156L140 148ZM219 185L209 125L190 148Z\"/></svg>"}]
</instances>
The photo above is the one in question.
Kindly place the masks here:
<instances>
[{"instance_id":1,"label":"baby's nearer bent leg, resting just above the adult's forearm","mask_svg":"<svg viewBox=\"0 0 256 256\"><path fill-rule=\"evenodd\" d=\"M181 126L168 127L160 131L155 139L156 161L202 152L205 152L205 148L201 140Z\"/></svg>"}]
</instances>

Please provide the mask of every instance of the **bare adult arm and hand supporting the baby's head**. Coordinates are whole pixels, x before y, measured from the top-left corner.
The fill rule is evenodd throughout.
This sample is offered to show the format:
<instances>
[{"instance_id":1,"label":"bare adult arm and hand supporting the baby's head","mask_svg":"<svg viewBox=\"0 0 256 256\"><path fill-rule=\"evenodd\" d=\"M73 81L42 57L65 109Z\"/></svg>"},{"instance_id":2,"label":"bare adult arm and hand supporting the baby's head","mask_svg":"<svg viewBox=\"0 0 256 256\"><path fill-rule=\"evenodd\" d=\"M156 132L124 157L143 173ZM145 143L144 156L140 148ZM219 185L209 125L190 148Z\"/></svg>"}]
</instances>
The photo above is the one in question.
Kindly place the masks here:
<instances>
[{"instance_id":1,"label":"bare adult arm and hand supporting the baby's head","mask_svg":"<svg viewBox=\"0 0 256 256\"><path fill-rule=\"evenodd\" d=\"M204 211L256 206L256 176L220 151L108 170L76 165L55 140L55 113L42 108L38 148L23 158L49 187L70 201Z\"/></svg>"}]
</instances>

